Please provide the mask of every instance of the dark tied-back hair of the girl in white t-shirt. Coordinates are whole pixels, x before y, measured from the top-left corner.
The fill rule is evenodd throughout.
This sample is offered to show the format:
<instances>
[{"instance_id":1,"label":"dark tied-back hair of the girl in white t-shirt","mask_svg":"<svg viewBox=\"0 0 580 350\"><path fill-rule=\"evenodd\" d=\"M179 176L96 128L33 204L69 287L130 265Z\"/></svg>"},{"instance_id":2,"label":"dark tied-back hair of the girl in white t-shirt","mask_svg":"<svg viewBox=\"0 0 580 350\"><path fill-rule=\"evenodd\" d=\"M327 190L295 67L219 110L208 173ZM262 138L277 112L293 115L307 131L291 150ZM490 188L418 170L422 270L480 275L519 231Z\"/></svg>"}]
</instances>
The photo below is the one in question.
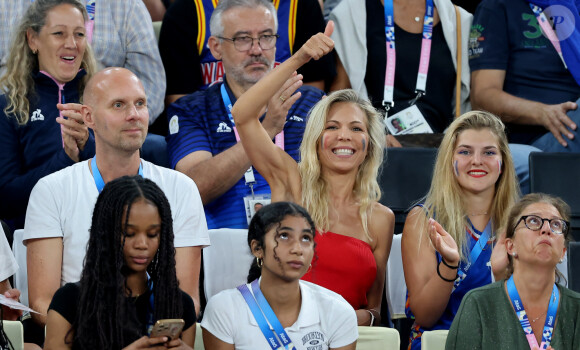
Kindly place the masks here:
<instances>
[{"instance_id":1,"label":"dark tied-back hair of the girl in white t-shirt","mask_svg":"<svg viewBox=\"0 0 580 350\"><path fill-rule=\"evenodd\" d=\"M252 240L256 240L258 242L258 247L264 249L264 236L266 236L266 233L268 233L274 225L280 226L280 222L284 220L286 216L304 218L310 226L312 237L314 237L316 234L316 228L314 226L314 221L312 221L312 218L306 209L292 202L276 202L266 205L258 210L256 214L254 214L252 221L250 221L250 225L248 226L248 246L250 249L252 249ZM250 271L248 272L248 283L261 275L262 270L258 267L256 260L254 260L252 266L250 266Z\"/></svg>"}]
</instances>

